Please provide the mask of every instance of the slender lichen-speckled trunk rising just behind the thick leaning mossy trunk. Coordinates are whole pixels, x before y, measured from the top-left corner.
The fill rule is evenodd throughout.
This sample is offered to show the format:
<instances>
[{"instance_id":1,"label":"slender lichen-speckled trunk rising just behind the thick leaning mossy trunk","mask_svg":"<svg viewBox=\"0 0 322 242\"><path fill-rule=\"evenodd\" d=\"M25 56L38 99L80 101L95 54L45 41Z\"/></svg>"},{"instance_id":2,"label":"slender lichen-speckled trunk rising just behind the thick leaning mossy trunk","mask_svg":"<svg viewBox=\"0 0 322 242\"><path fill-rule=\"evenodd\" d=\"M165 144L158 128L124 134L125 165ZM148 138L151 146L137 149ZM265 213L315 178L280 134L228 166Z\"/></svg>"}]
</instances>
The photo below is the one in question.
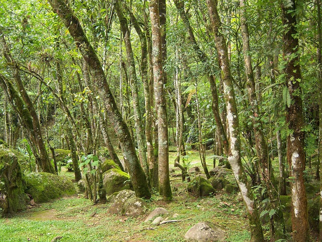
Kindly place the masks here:
<instances>
[{"instance_id":1,"label":"slender lichen-speckled trunk rising just behind the thick leaning mossy trunk","mask_svg":"<svg viewBox=\"0 0 322 242\"><path fill-rule=\"evenodd\" d=\"M128 67L128 73L129 73L129 79L130 79L130 86L132 90L134 125L135 125L135 131L136 131L137 146L139 150L139 157L149 185L149 179L148 179L149 171L148 171L148 164L147 164L147 158L146 158L145 138L144 138L142 115L141 115L141 108L140 108L139 95L138 95L134 56L133 56L132 44L130 40L130 30L128 28L127 20L123 15L123 12L121 10L121 5L118 0L115 1L114 6L120 21L121 30L123 33L123 39L125 42L127 67ZM126 6L126 5L124 4L123 6Z\"/></svg>"}]
</instances>

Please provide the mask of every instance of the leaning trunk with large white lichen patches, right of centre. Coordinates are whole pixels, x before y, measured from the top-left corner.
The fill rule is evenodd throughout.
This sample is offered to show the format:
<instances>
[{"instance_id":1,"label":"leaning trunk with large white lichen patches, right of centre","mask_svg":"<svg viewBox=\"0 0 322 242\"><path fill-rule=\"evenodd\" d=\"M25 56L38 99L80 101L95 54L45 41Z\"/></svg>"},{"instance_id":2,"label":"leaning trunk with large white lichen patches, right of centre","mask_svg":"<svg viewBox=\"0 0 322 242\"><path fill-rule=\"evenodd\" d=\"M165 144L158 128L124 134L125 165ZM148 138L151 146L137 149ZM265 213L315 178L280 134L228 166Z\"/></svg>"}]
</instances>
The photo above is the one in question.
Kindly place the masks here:
<instances>
[{"instance_id":1,"label":"leaning trunk with large white lichen patches, right of centre","mask_svg":"<svg viewBox=\"0 0 322 242\"><path fill-rule=\"evenodd\" d=\"M214 33L215 44L218 53L218 62L221 71L224 99L227 109L227 121L230 137L228 161L231 165L236 182L246 205L246 211L250 221L250 229L252 235L251 241L263 241L264 235L256 202L254 200L251 186L247 180L246 172L244 171L243 165L241 164L238 111L233 90L232 76L230 73L228 51L225 38L222 35L222 27L217 11L217 4L218 2L216 0L207 0L210 23L212 31Z\"/></svg>"}]
</instances>

